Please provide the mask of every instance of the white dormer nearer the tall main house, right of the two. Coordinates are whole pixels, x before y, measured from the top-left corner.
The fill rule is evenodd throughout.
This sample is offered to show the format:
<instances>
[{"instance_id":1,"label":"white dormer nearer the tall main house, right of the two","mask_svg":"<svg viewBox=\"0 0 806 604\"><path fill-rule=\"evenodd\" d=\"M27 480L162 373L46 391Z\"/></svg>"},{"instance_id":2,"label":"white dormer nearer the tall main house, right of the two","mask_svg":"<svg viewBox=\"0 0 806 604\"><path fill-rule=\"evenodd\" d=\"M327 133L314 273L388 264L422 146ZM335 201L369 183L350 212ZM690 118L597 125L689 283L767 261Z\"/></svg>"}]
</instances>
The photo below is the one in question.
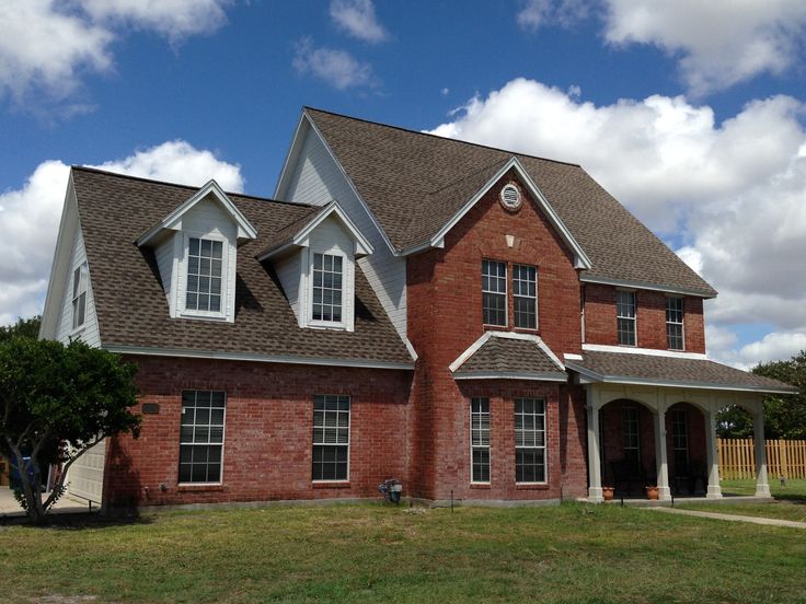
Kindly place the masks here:
<instances>
[{"instance_id":1,"label":"white dormer nearer the tall main house, right of the two","mask_svg":"<svg viewBox=\"0 0 806 604\"><path fill-rule=\"evenodd\" d=\"M353 332L356 260L371 253L331 201L281 229L256 257L274 265L300 327Z\"/></svg>"}]
</instances>

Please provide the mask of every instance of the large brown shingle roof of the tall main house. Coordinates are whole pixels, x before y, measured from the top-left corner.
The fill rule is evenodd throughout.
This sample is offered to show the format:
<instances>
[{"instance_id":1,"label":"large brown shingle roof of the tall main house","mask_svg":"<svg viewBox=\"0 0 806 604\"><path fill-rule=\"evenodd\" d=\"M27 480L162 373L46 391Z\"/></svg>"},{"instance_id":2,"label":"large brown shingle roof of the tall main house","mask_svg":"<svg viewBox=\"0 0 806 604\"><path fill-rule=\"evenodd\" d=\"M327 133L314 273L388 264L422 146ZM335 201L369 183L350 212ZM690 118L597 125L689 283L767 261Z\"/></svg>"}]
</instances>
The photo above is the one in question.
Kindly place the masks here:
<instances>
[{"instance_id":1,"label":"large brown shingle roof of the tall main house","mask_svg":"<svg viewBox=\"0 0 806 604\"><path fill-rule=\"evenodd\" d=\"M588 277L716 295L578 165L306 112L398 249L427 242L515 155L592 262Z\"/></svg>"}]
</instances>

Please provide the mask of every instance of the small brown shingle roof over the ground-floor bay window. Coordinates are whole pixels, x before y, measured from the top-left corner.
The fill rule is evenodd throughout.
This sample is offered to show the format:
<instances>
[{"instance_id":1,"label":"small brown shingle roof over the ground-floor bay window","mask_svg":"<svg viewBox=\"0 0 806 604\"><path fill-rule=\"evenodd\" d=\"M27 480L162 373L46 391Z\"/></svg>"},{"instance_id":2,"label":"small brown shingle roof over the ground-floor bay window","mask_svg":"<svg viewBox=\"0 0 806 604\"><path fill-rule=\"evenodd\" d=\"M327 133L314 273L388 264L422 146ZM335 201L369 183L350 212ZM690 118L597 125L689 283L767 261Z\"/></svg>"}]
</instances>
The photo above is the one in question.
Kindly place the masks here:
<instances>
[{"instance_id":1,"label":"small brown shingle roof over the ground-floor bay window","mask_svg":"<svg viewBox=\"0 0 806 604\"><path fill-rule=\"evenodd\" d=\"M457 376L479 374L541 375L565 381L565 370L538 346L537 341L509 337L490 337L457 370Z\"/></svg>"}]
</instances>

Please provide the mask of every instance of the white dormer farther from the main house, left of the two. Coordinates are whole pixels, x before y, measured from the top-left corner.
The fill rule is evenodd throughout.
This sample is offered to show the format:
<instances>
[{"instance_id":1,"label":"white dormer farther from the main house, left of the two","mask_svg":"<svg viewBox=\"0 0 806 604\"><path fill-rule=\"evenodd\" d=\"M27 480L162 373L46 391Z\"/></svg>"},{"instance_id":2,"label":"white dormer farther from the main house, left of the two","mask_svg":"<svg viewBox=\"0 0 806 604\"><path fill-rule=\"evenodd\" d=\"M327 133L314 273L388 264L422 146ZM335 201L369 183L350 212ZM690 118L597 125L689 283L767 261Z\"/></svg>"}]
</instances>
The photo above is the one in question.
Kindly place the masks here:
<instances>
[{"instance_id":1,"label":"white dormer farther from the main house, left of the two","mask_svg":"<svg viewBox=\"0 0 806 604\"><path fill-rule=\"evenodd\" d=\"M215 181L135 243L151 247L172 318L235 320L238 246L257 231Z\"/></svg>"}]
</instances>

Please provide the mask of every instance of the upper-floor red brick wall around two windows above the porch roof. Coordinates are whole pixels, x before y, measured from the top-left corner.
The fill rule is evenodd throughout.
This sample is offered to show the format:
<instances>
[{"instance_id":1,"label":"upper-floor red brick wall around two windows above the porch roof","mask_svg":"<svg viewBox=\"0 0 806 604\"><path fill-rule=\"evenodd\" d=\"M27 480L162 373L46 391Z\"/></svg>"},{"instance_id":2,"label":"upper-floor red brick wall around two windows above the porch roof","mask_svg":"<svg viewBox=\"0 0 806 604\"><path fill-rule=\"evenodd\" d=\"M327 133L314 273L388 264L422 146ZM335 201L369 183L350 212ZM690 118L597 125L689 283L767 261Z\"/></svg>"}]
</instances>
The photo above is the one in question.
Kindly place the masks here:
<instances>
[{"instance_id":1,"label":"upper-floor red brick wall around two windows above the porch roof","mask_svg":"<svg viewBox=\"0 0 806 604\"><path fill-rule=\"evenodd\" d=\"M637 346L667 350L666 295L658 291L635 292ZM705 352L705 328L701 298L683 300L684 349ZM598 283L585 284L585 341L617 346L615 288Z\"/></svg>"}]
</instances>

